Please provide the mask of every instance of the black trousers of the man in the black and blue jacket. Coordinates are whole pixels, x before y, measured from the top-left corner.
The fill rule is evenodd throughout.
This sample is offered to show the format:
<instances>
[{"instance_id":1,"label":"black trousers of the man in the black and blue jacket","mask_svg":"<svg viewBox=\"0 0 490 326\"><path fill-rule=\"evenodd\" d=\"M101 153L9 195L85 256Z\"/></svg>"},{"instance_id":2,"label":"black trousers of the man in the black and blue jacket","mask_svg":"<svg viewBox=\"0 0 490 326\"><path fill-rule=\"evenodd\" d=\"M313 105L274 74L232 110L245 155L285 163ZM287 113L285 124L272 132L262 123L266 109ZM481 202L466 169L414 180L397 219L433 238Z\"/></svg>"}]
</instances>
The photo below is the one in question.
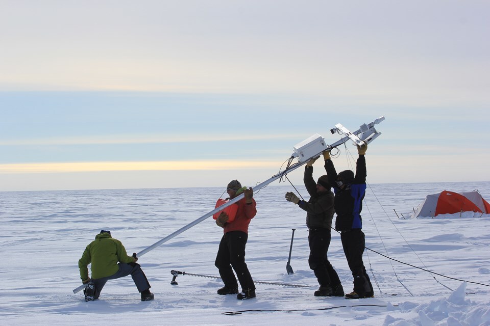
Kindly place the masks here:
<instances>
[{"instance_id":1,"label":"black trousers of the man in the black and blue jacket","mask_svg":"<svg viewBox=\"0 0 490 326\"><path fill-rule=\"evenodd\" d=\"M342 232L340 239L347 263L354 277L354 292L361 296L365 294L372 296L374 294L373 285L362 262L362 254L366 246L364 232L361 229L352 229L348 232Z\"/></svg>"}]
</instances>

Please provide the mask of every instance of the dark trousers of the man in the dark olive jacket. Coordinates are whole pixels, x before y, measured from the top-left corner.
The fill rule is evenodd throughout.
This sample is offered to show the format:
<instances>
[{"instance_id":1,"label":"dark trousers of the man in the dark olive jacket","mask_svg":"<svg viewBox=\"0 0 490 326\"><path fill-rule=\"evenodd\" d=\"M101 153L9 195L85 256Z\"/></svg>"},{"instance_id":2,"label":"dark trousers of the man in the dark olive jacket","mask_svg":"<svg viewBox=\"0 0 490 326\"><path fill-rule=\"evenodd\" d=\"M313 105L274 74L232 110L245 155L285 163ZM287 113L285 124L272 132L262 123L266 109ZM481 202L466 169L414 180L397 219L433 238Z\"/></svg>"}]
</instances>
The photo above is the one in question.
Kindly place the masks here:
<instances>
[{"instance_id":1,"label":"dark trousers of the man in the dark olive jacket","mask_svg":"<svg viewBox=\"0 0 490 326\"><path fill-rule=\"evenodd\" d=\"M308 244L310 246L308 264L313 270L318 284L321 286L330 285L335 289L340 285L340 280L327 257L328 247L330 246L330 229L309 228L308 230Z\"/></svg>"}]
</instances>

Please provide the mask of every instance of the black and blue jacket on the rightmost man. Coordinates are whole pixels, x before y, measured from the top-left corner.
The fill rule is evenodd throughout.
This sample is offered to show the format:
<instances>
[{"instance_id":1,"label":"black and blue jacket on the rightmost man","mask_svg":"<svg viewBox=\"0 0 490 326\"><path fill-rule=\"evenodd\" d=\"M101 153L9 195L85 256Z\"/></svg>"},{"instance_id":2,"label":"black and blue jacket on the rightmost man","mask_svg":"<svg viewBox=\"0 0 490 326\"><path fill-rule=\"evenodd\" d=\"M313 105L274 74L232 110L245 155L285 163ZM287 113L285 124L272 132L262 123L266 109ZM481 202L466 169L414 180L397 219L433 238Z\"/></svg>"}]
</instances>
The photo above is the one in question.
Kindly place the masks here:
<instances>
[{"instance_id":1,"label":"black and blue jacket on the rightmost man","mask_svg":"<svg viewBox=\"0 0 490 326\"><path fill-rule=\"evenodd\" d=\"M352 229L362 229L362 200L366 194L366 159L364 155L359 155L356 162L356 174L352 182L340 189L335 180L337 172L331 159L325 161L330 185L335 193L335 229L337 231L349 231ZM341 172L342 173L342 172ZM344 180L345 181L345 180ZM351 180L349 180L351 181Z\"/></svg>"}]
</instances>

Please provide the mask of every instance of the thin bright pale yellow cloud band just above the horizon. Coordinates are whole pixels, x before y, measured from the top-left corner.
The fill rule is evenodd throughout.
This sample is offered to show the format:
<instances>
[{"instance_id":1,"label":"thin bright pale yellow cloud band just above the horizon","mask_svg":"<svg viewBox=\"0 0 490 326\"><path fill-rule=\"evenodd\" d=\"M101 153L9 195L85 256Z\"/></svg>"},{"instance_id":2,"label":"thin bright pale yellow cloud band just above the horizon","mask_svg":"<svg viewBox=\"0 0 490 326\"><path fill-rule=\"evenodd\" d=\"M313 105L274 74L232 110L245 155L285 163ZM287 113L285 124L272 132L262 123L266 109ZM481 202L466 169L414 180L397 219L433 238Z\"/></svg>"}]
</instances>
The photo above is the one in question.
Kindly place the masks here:
<instances>
[{"instance_id":1,"label":"thin bright pale yellow cloud band just above the horizon","mask_svg":"<svg viewBox=\"0 0 490 326\"><path fill-rule=\"evenodd\" d=\"M63 173L103 171L178 171L235 170L277 168L277 161L205 160L205 161L140 161L140 162L66 162L0 164L0 174Z\"/></svg>"}]
</instances>

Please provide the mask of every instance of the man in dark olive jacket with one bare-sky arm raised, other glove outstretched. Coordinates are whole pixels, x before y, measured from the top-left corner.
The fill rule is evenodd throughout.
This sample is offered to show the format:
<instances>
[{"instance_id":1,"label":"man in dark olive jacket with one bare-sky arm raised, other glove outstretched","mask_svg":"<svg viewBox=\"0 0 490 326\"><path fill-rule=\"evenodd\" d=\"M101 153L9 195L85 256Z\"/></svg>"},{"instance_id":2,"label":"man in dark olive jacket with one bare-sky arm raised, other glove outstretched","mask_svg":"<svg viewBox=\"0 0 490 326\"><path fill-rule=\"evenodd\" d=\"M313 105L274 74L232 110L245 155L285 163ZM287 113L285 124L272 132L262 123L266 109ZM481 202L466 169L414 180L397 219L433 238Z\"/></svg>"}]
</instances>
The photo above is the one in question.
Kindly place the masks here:
<instances>
[{"instance_id":1,"label":"man in dark olive jacket with one bare-sky arm raised, other glove outstretched","mask_svg":"<svg viewBox=\"0 0 490 326\"><path fill-rule=\"evenodd\" d=\"M311 159L305 167L303 181L310 195L308 202L300 200L295 194L286 193L286 200L298 204L306 211L306 226L308 227L308 244L310 257L308 264L313 270L320 288L315 296L344 296L344 288L340 284L337 272L328 261L327 252L330 246L330 231L333 219L334 195L330 190L327 175L315 182L313 179L313 163Z\"/></svg>"}]
</instances>

